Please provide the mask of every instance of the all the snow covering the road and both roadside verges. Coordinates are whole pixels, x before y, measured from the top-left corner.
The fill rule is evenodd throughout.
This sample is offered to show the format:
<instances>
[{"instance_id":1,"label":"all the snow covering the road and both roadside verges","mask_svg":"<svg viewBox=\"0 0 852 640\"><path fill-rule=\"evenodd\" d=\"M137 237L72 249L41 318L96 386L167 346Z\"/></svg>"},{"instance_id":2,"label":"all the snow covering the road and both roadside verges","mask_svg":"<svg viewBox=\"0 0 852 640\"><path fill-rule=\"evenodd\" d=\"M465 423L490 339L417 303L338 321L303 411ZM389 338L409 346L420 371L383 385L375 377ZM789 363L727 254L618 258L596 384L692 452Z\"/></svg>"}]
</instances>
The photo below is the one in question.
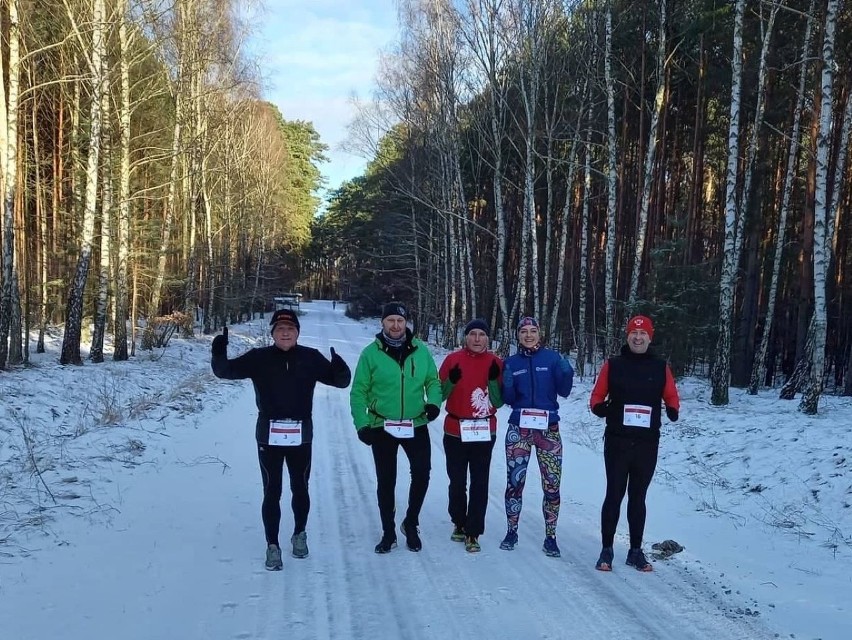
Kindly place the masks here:
<instances>
[{"instance_id":1,"label":"all the snow covering the road and both roadside verges","mask_svg":"<svg viewBox=\"0 0 852 640\"><path fill-rule=\"evenodd\" d=\"M329 302L303 311L300 342L334 346L353 369L378 330ZM423 551L374 554L372 458L348 390L319 386L311 554L267 572L254 396L248 381L212 376L210 338L83 367L58 365L61 337L51 338L33 366L0 374L3 640L852 637L852 399L826 397L808 417L775 392L732 390L719 408L705 381L679 381L682 418L664 426L645 546L674 539L685 550L651 574L626 567L622 518L604 574L594 570L604 473L591 377L562 402L559 559L541 552L535 465L520 544L498 548L499 440L483 551L450 541L437 423ZM229 354L268 343L264 320L234 326ZM402 455L400 470L404 509Z\"/></svg>"}]
</instances>

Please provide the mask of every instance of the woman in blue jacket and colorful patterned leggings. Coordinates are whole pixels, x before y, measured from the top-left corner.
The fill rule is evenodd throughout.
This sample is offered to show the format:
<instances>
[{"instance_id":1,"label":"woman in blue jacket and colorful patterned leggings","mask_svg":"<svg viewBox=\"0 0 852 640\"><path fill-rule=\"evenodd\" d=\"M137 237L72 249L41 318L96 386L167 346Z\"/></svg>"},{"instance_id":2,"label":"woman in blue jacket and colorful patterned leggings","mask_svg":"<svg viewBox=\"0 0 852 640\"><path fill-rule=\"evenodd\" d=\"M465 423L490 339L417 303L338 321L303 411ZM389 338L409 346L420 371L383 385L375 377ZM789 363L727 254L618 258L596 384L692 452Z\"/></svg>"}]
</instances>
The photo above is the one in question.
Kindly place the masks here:
<instances>
[{"instance_id":1,"label":"woman in blue jacket and colorful patterned leggings","mask_svg":"<svg viewBox=\"0 0 852 640\"><path fill-rule=\"evenodd\" d=\"M545 538L542 550L553 558L561 554L556 544L559 519L559 483L562 477L562 439L559 436L559 401L574 384L574 369L567 359L541 343L538 321L521 318L518 352L503 368L503 401L512 407L506 431L506 520L508 531L500 548L511 551L518 543L518 520L523 507L524 483L532 448L541 472L544 492Z\"/></svg>"}]
</instances>

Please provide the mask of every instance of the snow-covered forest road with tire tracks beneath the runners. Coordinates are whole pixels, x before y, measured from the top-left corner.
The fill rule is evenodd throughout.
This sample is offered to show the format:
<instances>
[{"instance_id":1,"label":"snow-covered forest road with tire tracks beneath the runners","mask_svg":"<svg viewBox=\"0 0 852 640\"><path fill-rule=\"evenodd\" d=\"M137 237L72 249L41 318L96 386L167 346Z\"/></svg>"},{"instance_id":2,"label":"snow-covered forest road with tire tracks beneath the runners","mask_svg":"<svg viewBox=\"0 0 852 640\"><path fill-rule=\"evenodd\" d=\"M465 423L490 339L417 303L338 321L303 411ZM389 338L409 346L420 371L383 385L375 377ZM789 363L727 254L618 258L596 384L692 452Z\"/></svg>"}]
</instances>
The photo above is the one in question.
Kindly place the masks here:
<instances>
[{"instance_id":1,"label":"snow-covered forest road with tire tracks beneath the runners","mask_svg":"<svg viewBox=\"0 0 852 640\"><path fill-rule=\"evenodd\" d=\"M326 354L334 346L354 370L374 328L347 319L330 304L307 308L300 342ZM232 334L249 329L258 332L237 326ZM230 355L240 351L232 341ZM355 437L348 393L319 386L314 399L307 559L285 554L283 571L264 570L253 391L247 381L211 376L201 413L175 418L166 425L168 437L150 434L142 464L116 465L103 477L114 508L108 526L100 519L67 519L62 544L41 539L28 557L0 565L0 638L773 637L762 618L732 614L718 585L688 564L656 562L650 574L626 567L622 537L615 571L595 571L602 461L576 445L566 447L558 529L562 558L541 551L544 525L535 465L520 544L515 551L501 551L502 412L482 552L467 554L450 540L436 422L430 427L432 480L420 519L423 551L411 553L401 544L388 555L376 555L375 474L369 449ZM585 401L576 398L565 406L569 413L580 411ZM408 485L402 455L399 478L397 508L402 510ZM292 525L286 497L282 511L284 541Z\"/></svg>"}]
</instances>

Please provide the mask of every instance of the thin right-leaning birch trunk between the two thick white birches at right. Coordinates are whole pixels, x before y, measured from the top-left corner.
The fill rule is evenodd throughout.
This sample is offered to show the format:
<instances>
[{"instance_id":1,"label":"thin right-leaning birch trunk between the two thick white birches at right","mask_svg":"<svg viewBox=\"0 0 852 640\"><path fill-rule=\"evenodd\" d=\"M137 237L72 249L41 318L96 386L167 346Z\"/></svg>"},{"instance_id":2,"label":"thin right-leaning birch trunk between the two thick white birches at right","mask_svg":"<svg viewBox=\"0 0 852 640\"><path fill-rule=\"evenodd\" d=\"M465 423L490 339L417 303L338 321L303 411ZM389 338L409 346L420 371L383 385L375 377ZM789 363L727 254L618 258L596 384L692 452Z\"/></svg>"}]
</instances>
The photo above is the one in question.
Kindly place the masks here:
<instances>
[{"instance_id":1,"label":"thin right-leaning birch trunk between the two thick white birches at right","mask_svg":"<svg viewBox=\"0 0 852 640\"><path fill-rule=\"evenodd\" d=\"M784 187L781 196L781 209L778 213L778 226L775 232L775 255L772 259L772 275L770 276L769 293L766 304L766 320L763 324L763 335L760 347L755 355L751 370L748 393L757 394L758 388L766 379L766 357L769 353L769 338L772 334L772 323L775 318L775 303L778 299L778 281L781 277L781 258L787 236L787 215L790 210L790 197L793 193L793 181L796 177L796 165L799 160L799 142L801 140L802 109L805 104L805 83L808 78L808 64L811 50L811 34L813 31L814 0L811 0L805 26L805 38L802 44L802 63L799 71L799 86L796 92L796 106L793 111L793 129L790 134L790 148L787 152L787 167L784 174Z\"/></svg>"}]
</instances>

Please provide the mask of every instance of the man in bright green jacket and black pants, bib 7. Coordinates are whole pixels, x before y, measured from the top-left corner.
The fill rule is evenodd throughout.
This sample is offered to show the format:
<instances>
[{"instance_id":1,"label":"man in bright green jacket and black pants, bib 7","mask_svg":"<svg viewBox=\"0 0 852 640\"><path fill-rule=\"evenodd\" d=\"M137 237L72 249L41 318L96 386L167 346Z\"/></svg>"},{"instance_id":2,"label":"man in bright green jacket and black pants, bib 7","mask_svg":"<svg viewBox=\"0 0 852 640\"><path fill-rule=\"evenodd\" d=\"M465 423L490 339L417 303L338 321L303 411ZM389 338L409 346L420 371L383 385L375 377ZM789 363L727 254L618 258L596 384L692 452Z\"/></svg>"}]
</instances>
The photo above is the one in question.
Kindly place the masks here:
<instances>
[{"instance_id":1,"label":"man in bright green jacket and black pants, bib 7","mask_svg":"<svg viewBox=\"0 0 852 640\"><path fill-rule=\"evenodd\" d=\"M408 311L400 302L382 308L382 330L358 359L350 391L358 439L372 448L382 539L376 553L396 546L394 496L399 447L411 466L408 510L400 527L410 551L420 551L420 509L429 488L432 444L427 424L438 417L441 383L438 368L422 340L406 327Z\"/></svg>"}]
</instances>

